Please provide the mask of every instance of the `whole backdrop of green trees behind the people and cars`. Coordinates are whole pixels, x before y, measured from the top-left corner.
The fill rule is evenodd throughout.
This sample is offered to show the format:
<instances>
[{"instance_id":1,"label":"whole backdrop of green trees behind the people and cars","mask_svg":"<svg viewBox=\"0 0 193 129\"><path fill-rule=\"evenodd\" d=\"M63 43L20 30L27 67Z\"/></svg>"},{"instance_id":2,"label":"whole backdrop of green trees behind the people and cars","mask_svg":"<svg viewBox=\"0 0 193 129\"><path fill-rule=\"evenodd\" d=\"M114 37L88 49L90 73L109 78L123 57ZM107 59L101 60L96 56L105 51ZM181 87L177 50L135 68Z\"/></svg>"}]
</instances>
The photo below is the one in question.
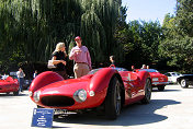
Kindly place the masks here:
<instances>
[{"instance_id":1,"label":"whole backdrop of green trees behind the people and cars","mask_svg":"<svg viewBox=\"0 0 193 129\"><path fill-rule=\"evenodd\" d=\"M193 72L193 0L178 0L175 15L166 14L162 26L157 21L126 23L127 8L121 2L0 0L0 70L45 66L58 42L69 52L80 35L95 64L114 55L128 69L167 61L166 67Z\"/></svg>"}]
</instances>

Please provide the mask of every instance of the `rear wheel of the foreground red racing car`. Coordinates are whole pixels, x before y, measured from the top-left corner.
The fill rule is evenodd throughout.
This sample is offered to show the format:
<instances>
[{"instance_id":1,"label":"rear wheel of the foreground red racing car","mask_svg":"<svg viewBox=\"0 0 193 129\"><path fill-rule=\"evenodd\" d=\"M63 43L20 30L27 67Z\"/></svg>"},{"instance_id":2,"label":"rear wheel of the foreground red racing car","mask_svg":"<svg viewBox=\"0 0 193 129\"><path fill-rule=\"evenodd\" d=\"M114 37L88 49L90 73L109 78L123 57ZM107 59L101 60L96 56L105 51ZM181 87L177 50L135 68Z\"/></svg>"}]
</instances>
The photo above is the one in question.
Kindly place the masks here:
<instances>
[{"instance_id":1,"label":"rear wheel of the foreground red racing car","mask_svg":"<svg viewBox=\"0 0 193 129\"><path fill-rule=\"evenodd\" d=\"M147 79L145 84L145 97L140 101L143 104L150 103L151 91L152 91L151 82L149 79Z\"/></svg>"}]
</instances>

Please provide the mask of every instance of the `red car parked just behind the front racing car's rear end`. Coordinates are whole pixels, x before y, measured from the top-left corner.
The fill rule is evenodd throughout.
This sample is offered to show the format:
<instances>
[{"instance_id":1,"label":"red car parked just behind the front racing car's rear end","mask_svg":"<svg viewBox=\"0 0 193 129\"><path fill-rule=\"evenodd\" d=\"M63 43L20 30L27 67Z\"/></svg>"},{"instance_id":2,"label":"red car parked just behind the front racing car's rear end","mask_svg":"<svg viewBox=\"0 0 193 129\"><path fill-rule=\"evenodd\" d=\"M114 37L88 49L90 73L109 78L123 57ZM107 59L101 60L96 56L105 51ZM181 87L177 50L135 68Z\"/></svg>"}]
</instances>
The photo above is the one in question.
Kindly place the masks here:
<instances>
[{"instance_id":1,"label":"red car parked just behind the front racing car's rear end","mask_svg":"<svg viewBox=\"0 0 193 129\"><path fill-rule=\"evenodd\" d=\"M138 69L137 71L147 71L150 74L152 87L158 87L159 91L163 91L164 86L169 84L168 77L161 74L158 70L155 69Z\"/></svg>"}]
</instances>

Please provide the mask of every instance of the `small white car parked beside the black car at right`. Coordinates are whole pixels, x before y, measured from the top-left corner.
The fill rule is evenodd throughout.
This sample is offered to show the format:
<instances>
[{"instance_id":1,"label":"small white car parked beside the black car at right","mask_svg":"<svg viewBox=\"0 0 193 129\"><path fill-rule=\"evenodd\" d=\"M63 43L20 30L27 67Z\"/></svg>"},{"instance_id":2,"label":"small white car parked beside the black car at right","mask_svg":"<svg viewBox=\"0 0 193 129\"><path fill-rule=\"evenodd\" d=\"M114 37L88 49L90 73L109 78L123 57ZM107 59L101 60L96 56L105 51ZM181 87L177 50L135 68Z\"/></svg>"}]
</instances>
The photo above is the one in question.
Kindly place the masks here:
<instances>
[{"instance_id":1,"label":"small white car parked beside the black car at right","mask_svg":"<svg viewBox=\"0 0 193 129\"><path fill-rule=\"evenodd\" d=\"M167 72L167 73L164 73L164 75L168 77L168 81L169 81L170 84L175 84L177 83L177 79L179 77L182 77L182 74L178 73L178 72Z\"/></svg>"}]
</instances>

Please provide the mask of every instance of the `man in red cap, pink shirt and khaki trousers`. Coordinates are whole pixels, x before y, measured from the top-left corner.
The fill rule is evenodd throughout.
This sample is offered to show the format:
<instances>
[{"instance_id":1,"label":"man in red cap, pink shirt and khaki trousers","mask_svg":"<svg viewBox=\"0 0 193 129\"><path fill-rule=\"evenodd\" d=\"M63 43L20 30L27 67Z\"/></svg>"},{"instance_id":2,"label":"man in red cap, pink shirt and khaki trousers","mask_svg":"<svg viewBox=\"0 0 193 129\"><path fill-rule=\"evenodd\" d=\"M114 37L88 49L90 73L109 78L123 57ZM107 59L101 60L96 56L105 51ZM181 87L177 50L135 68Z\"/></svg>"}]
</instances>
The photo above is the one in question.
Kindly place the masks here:
<instances>
[{"instance_id":1,"label":"man in red cap, pink shirt and khaki trousers","mask_svg":"<svg viewBox=\"0 0 193 129\"><path fill-rule=\"evenodd\" d=\"M76 64L73 66L75 78L80 78L92 69L91 67L91 57L88 48L82 46L82 39L80 36L75 38L77 44L70 51L69 59L75 60Z\"/></svg>"}]
</instances>

